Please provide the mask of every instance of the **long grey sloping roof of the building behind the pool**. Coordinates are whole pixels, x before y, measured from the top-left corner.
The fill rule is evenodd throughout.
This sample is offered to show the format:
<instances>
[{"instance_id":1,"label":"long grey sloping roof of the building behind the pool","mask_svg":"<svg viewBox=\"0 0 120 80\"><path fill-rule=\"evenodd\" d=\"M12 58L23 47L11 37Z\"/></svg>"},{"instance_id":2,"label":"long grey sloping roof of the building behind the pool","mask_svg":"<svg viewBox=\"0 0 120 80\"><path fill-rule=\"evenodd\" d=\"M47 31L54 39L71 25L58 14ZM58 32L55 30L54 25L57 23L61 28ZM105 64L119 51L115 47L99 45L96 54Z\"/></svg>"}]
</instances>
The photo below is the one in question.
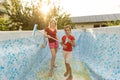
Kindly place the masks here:
<instances>
[{"instance_id":1,"label":"long grey sloping roof of the building behind the pool","mask_svg":"<svg viewBox=\"0 0 120 80\"><path fill-rule=\"evenodd\" d=\"M73 23L115 21L115 20L120 20L120 13L119 14L71 17L71 20Z\"/></svg>"}]
</instances>

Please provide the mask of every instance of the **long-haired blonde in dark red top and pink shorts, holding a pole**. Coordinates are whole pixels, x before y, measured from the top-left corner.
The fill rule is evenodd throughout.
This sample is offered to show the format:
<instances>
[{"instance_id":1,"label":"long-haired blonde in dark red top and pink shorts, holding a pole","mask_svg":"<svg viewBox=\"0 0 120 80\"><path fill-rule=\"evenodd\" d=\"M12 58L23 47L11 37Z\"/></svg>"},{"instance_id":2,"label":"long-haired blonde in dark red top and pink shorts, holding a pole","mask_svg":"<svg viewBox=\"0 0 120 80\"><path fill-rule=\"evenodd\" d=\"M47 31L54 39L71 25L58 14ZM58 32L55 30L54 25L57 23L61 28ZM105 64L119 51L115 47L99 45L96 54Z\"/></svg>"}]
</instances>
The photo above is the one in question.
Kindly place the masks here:
<instances>
[{"instance_id":1,"label":"long-haired blonde in dark red top and pink shorts, holding a pole","mask_svg":"<svg viewBox=\"0 0 120 80\"><path fill-rule=\"evenodd\" d=\"M55 59L56 59L57 50L59 46L58 41L56 41L58 40L58 37L57 37L57 22L55 21L55 19L52 19L50 21L49 26L45 28L45 34L49 35L47 37L48 37L48 42L49 42L49 48L50 48L51 55L52 55L49 76L52 77L53 68L57 67L55 65ZM54 40L53 38L56 40Z\"/></svg>"}]
</instances>

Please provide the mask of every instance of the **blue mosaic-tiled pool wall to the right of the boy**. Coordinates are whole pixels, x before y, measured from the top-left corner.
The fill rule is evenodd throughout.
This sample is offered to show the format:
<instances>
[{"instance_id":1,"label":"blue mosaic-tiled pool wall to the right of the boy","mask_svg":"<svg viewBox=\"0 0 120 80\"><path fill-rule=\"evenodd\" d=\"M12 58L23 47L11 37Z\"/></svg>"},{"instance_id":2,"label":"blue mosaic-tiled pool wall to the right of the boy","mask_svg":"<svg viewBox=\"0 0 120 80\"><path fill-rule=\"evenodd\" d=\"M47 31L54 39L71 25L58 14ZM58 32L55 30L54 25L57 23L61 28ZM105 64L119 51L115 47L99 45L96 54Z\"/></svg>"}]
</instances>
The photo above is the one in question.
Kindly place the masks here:
<instances>
[{"instance_id":1,"label":"blue mosaic-tiled pool wall to the right of the boy","mask_svg":"<svg viewBox=\"0 0 120 80\"><path fill-rule=\"evenodd\" d=\"M120 27L103 29L81 33L77 41L79 60L85 63L92 80L119 80L120 32L116 31Z\"/></svg>"}]
</instances>

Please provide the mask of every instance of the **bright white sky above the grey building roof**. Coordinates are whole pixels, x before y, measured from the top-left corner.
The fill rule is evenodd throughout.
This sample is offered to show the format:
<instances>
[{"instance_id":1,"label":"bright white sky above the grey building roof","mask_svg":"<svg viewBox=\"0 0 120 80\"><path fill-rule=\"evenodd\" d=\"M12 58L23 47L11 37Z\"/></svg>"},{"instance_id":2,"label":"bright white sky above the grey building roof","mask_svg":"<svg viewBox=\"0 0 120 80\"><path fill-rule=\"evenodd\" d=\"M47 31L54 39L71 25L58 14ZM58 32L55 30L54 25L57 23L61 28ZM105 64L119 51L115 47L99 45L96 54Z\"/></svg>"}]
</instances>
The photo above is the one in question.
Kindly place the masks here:
<instances>
[{"instance_id":1,"label":"bright white sky above the grey building roof","mask_svg":"<svg viewBox=\"0 0 120 80\"><path fill-rule=\"evenodd\" d=\"M120 13L120 0L60 0L60 5L71 17Z\"/></svg>"}]
</instances>

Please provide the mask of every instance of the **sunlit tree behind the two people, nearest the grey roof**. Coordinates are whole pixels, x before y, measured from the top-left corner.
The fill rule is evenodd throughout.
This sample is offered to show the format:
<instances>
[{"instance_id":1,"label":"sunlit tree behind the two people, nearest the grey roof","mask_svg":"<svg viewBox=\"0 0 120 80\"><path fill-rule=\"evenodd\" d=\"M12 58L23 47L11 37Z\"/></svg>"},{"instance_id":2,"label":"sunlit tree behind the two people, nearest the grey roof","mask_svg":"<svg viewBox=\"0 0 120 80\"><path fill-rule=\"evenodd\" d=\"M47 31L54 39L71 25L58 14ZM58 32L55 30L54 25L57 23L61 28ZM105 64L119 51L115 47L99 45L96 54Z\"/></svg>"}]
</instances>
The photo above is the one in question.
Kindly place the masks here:
<instances>
[{"instance_id":1,"label":"sunlit tree behind the two people, nearest the grey roof","mask_svg":"<svg viewBox=\"0 0 120 80\"><path fill-rule=\"evenodd\" d=\"M54 7L50 10L50 13L48 14L48 19L50 19L50 17L55 17L57 20L58 29L64 29L65 25L71 25L73 28L74 24L71 21L70 14L66 12L61 12L63 12L62 8L60 6L54 5Z\"/></svg>"}]
</instances>

